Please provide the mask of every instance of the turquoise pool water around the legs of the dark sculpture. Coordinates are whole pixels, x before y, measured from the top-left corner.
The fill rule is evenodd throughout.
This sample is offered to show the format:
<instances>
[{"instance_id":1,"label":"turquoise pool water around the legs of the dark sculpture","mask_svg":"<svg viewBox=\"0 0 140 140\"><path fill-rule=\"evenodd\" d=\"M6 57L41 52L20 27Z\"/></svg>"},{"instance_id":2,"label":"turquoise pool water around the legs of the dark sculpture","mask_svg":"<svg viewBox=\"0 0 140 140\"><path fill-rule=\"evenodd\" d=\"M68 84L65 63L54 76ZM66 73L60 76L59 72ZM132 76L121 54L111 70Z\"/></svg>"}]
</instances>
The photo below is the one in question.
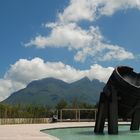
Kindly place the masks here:
<instances>
[{"instance_id":1,"label":"turquoise pool water around the legs of the dark sculpture","mask_svg":"<svg viewBox=\"0 0 140 140\"><path fill-rule=\"evenodd\" d=\"M130 126L119 126L118 135L108 135L107 129L103 135L95 135L93 127L59 128L43 130L42 132L55 136L60 140L138 140L140 131L130 131Z\"/></svg>"}]
</instances>

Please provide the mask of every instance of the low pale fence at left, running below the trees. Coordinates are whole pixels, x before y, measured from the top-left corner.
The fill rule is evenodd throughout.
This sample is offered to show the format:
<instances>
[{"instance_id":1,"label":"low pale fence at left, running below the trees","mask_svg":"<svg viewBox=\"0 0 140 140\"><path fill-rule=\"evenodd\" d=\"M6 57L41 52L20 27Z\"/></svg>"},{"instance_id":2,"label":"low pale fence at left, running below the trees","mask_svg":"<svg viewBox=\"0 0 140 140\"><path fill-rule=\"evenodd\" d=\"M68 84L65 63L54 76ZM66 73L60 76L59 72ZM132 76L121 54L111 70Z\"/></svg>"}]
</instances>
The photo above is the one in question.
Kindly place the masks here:
<instances>
[{"instance_id":1,"label":"low pale fence at left, running below the trees","mask_svg":"<svg viewBox=\"0 0 140 140\"><path fill-rule=\"evenodd\" d=\"M0 118L0 125L3 124L35 124L50 123L51 118Z\"/></svg>"}]
</instances>

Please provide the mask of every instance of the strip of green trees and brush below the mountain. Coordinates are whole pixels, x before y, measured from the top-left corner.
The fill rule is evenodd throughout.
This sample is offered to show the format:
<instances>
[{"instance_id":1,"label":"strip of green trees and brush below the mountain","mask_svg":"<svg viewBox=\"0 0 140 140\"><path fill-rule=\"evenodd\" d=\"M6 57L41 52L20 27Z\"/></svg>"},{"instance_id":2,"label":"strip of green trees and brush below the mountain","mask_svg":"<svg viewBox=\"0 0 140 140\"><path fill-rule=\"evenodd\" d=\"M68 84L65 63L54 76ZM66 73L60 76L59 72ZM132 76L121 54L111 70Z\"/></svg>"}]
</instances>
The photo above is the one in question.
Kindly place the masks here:
<instances>
[{"instance_id":1,"label":"strip of green trees and brush below the mountain","mask_svg":"<svg viewBox=\"0 0 140 140\"><path fill-rule=\"evenodd\" d=\"M96 108L95 105L90 105L88 103L79 102L74 99L71 103L66 100L61 99L55 107L50 107L47 105L35 105L35 104L0 104L0 118L49 118L54 114L57 114L57 110L64 108ZM69 112L65 112L64 116L68 116Z\"/></svg>"}]
</instances>

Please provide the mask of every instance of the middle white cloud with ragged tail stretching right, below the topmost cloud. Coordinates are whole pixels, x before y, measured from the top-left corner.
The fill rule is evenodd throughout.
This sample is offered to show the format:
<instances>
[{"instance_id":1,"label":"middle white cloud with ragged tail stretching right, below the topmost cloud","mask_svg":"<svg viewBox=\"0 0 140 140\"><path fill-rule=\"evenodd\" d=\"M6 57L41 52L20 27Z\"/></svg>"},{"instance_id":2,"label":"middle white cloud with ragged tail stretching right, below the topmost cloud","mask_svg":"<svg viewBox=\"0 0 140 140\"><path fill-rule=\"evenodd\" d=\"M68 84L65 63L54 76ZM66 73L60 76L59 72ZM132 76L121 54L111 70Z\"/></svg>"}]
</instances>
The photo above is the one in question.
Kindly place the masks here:
<instances>
[{"instance_id":1,"label":"middle white cloud with ragged tail stretching right, below the topmost cloud","mask_svg":"<svg viewBox=\"0 0 140 140\"><path fill-rule=\"evenodd\" d=\"M35 45L38 48L66 47L71 51L75 50L77 53L74 59L81 62L84 62L88 56L95 57L100 61L134 58L134 55L123 47L103 43L104 38L98 27L91 26L89 30L84 30L75 23L49 24L49 27L52 28L52 32L48 37L37 36L26 46Z\"/></svg>"}]
</instances>

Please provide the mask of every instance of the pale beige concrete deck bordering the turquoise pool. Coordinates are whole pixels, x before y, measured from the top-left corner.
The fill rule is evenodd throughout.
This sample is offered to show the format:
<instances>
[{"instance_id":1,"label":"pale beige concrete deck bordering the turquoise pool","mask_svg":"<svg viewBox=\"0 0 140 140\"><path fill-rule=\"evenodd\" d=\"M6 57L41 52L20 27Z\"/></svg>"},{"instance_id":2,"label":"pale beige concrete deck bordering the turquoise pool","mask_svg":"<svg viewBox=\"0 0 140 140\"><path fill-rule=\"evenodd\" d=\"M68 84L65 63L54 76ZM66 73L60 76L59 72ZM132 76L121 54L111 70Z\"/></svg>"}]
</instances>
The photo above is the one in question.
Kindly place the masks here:
<instances>
[{"instance_id":1,"label":"pale beige concrete deck bordering the turquoise pool","mask_svg":"<svg viewBox=\"0 0 140 140\"><path fill-rule=\"evenodd\" d=\"M122 122L121 124L130 123ZM0 140L56 140L53 136L40 132L40 130L49 128L82 127L94 125L94 122L0 125Z\"/></svg>"}]
</instances>

